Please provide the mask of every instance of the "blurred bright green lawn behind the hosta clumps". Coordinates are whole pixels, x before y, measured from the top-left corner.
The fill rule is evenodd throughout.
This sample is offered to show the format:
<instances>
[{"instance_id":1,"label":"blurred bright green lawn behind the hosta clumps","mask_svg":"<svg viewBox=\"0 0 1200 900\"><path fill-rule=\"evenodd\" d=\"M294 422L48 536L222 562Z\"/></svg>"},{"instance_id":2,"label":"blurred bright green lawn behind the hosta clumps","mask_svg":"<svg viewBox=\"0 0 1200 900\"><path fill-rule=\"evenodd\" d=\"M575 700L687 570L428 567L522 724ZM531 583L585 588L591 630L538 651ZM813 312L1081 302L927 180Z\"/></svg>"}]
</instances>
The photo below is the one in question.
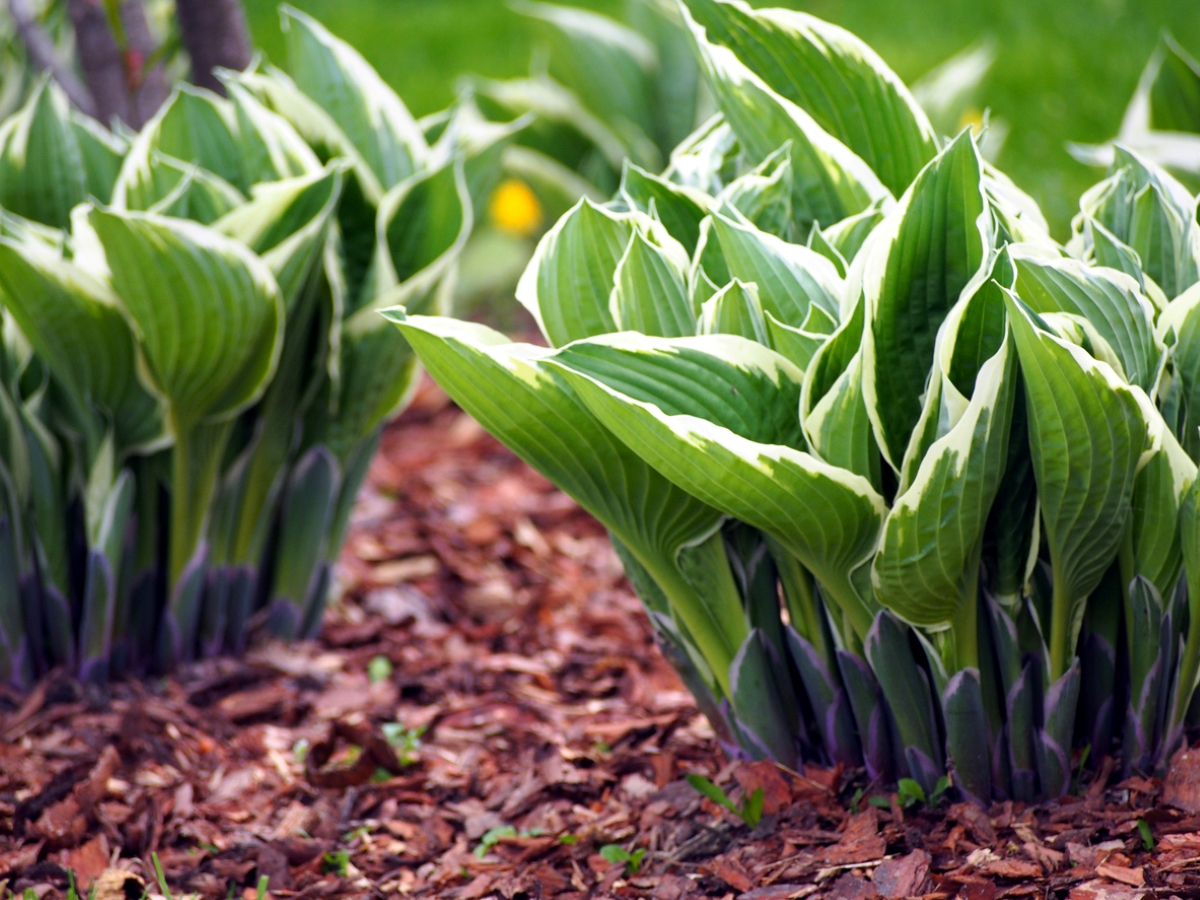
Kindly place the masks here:
<instances>
[{"instance_id":1,"label":"blurred bright green lawn behind the hosta clumps","mask_svg":"<svg viewBox=\"0 0 1200 900\"><path fill-rule=\"evenodd\" d=\"M622 0L566 0L619 14ZM251 29L282 61L277 0L246 0ZM528 71L534 29L504 0L292 0L344 37L418 115L448 106L464 72ZM863 37L910 84L990 37L997 59L980 97L1012 132L1000 166L1064 238L1079 194L1100 173L1064 143L1111 138L1163 29L1200 55L1200 0L769 0Z\"/></svg>"}]
</instances>

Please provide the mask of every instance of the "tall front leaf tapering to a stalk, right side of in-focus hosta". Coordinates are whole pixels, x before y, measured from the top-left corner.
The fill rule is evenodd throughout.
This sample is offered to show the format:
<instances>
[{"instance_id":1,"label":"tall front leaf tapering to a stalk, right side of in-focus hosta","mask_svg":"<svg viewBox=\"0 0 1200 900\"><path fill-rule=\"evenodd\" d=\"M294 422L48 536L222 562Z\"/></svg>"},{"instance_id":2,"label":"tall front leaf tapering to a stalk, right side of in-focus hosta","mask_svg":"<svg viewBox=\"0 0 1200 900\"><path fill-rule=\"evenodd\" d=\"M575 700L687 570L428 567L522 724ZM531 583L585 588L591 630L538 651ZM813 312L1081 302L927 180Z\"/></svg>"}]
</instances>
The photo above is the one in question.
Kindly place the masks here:
<instances>
[{"instance_id":1,"label":"tall front leaf tapering to a stalk, right side of in-focus hosta","mask_svg":"<svg viewBox=\"0 0 1200 900\"><path fill-rule=\"evenodd\" d=\"M1132 512L1146 421L1133 390L1084 349L1043 330L1015 294L1030 451L1054 569L1050 679L1066 673L1084 601L1116 557Z\"/></svg>"}]
</instances>

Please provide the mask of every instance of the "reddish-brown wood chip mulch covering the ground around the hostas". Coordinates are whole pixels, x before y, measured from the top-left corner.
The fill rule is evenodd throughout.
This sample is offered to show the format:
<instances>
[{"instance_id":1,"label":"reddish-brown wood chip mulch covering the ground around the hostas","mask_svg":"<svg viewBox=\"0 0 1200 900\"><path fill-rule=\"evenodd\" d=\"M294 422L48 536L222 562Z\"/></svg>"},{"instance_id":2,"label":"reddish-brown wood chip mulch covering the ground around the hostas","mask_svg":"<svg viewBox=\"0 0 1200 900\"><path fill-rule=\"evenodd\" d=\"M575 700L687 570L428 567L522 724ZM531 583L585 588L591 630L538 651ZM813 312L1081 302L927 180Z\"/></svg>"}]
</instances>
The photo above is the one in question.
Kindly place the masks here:
<instances>
[{"instance_id":1,"label":"reddish-brown wood chip mulch covering the ground around the hostas","mask_svg":"<svg viewBox=\"0 0 1200 900\"><path fill-rule=\"evenodd\" d=\"M55 900L71 870L100 900L157 894L156 854L204 898L263 876L304 899L1200 896L1200 752L1165 786L1105 766L989 811L730 763L602 529L430 384L341 571L318 642L0 694L0 884ZM762 822L692 773L734 803L761 787Z\"/></svg>"}]
</instances>

